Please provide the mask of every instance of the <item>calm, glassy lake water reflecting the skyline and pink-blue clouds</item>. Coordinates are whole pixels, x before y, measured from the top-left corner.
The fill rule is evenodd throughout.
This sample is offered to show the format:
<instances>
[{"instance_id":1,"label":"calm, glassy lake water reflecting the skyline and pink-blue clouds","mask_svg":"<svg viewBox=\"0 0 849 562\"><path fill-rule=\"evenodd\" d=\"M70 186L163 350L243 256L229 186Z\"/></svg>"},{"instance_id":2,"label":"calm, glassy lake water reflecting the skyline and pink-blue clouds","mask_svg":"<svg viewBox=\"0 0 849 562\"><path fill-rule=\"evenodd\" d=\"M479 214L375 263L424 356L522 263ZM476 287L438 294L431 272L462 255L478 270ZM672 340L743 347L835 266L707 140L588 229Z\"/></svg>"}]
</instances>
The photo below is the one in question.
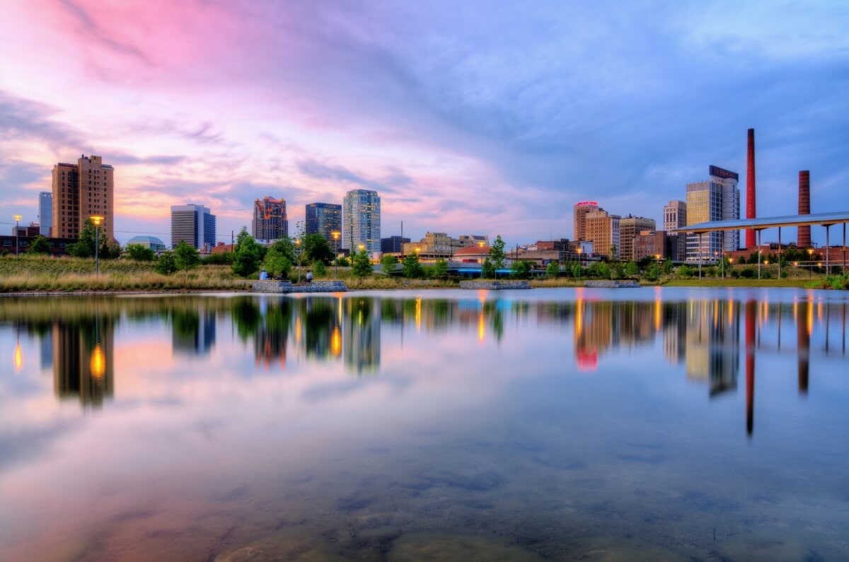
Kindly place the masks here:
<instances>
[{"instance_id":1,"label":"calm, glassy lake water reflecting the skyline and pink-blue clouds","mask_svg":"<svg viewBox=\"0 0 849 562\"><path fill-rule=\"evenodd\" d=\"M3 298L0 559L847 559L846 296Z\"/></svg>"}]
</instances>

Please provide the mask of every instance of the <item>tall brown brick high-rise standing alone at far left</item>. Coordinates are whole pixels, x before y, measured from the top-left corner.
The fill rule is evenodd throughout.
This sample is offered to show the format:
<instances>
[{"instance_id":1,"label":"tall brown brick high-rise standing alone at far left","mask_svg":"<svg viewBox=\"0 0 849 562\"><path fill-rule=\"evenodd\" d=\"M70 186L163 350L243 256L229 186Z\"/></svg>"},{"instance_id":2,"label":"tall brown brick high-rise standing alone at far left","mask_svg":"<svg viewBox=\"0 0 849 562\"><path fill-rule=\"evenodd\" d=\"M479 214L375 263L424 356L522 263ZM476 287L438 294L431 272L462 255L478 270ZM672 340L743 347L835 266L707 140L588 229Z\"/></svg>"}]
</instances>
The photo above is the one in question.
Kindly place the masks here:
<instances>
[{"instance_id":1,"label":"tall brown brick high-rise standing alone at far left","mask_svg":"<svg viewBox=\"0 0 849 562\"><path fill-rule=\"evenodd\" d=\"M115 239L114 172L100 156L53 166L53 238L79 238L90 216L103 216L101 232Z\"/></svg>"}]
</instances>

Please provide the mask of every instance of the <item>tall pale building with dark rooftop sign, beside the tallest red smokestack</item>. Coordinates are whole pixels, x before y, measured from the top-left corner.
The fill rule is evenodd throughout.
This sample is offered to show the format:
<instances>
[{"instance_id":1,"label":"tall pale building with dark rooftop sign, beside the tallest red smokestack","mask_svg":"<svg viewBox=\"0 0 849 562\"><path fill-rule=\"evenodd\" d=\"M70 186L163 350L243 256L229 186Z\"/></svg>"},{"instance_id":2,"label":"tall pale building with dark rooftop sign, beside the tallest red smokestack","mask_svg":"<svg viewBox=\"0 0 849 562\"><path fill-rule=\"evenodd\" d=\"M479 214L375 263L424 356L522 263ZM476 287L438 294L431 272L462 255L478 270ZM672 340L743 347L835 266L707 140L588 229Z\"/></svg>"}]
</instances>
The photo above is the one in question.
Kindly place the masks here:
<instances>
[{"instance_id":1,"label":"tall pale building with dark rooftop sign, beside the tallest red smokestack","mask_svg":"<svg viewBox=\"0 0 849 562\"><path fill-rule=\"evenodd\" d=\"M709 169L710 179L687 184L687 226L709 221L731 221L740 217L738 175L717 166ZM701 247L699 240L701 239ZM739 230L689 234L687 262L719 261L722 252L737 250Z\"/></svg>"}]
</instances>

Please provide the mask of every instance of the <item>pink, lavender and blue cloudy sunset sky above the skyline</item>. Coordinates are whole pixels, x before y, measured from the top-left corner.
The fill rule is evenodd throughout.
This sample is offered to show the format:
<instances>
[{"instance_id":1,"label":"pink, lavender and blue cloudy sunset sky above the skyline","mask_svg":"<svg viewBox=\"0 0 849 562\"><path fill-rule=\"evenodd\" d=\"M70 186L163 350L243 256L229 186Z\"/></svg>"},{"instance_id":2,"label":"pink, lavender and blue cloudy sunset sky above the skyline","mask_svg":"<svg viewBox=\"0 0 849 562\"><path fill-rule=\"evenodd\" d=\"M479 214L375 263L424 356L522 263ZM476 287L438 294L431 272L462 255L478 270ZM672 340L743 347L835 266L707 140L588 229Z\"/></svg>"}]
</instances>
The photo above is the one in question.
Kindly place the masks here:
<instances>
[{"instance_id":1,"label":"pink, lavender and blue cloudy sunset sky above the skyline","mask_svg":"<svg viewBox=\"0 0 849 562\"><path fill-rule=\"evenodd\" d=\"M573 238L572 206L654 218L708 166L757 215L849 211L849 3L3 0L0 225L57 162L115 166L115 237L217 238L253 202L381 198L381 235ZM783 233L783 241L795 238ZM835 234L835 233L832 233ZM812 228L824 243L824 229ZM777 239L767 230L763 240Z\"/></svg>"}]
</instances>

